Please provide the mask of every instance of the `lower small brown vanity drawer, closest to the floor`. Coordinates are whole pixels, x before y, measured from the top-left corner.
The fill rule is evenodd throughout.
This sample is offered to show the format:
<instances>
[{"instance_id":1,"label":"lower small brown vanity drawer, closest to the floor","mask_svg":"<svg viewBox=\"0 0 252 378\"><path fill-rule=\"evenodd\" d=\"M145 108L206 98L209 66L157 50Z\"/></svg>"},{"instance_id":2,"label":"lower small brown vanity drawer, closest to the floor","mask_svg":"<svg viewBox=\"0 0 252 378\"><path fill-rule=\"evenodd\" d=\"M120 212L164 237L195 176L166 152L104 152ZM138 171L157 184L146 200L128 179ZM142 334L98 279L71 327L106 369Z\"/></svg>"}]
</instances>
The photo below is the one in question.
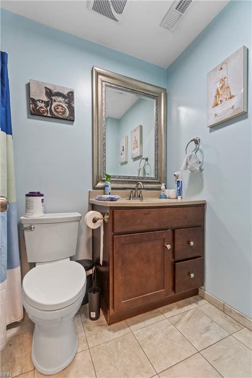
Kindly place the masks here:
<instances>
[{"instance_id":1,"label":"lower small brown vanity drawer, closest to the floor","mask_svg":"<svg viewBox=\"0 0 252 378\"><path fill-rule=\"evenodd\" d=\"M204 258L175 263L175 293L194 289L204 284Z\"/></svg>"}]
</instances>

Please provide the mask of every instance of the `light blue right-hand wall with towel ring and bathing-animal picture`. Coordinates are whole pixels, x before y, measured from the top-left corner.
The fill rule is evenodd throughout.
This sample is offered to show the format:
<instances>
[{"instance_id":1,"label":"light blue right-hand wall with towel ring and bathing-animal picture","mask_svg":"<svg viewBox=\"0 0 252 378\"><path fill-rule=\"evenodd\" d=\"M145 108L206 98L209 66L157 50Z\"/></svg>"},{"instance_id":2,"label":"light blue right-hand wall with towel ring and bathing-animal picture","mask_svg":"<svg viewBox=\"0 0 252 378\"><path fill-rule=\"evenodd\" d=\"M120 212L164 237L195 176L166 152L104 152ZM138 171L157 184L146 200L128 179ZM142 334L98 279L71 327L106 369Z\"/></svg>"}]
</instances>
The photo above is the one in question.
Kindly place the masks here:
<instances>
[{"instance_id":1,"label":"light blue right-hand wall with towel ring and bathing-animal picture","mask_svg":"<svg viewBox=\"0 0 252 378\"><path fill-rule=\"evenodd\" d=\"M183 174L186 196L207 200L205 289L252 317L252 2L230 1L167 70L168 182L187 142L201 138L203 171ZM207 73L249 48L248 114L207 128Z\"/></svg>"}]
</instances>

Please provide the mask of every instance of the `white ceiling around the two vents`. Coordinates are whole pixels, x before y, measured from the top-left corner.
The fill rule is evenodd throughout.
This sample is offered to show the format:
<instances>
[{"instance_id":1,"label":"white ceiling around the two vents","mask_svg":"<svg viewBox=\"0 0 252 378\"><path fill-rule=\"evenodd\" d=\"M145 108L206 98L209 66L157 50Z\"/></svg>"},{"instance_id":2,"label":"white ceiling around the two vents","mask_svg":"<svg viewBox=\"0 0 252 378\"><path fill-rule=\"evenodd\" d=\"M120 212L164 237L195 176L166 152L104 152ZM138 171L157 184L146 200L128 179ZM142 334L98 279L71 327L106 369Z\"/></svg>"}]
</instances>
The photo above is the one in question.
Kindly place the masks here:
<instances>
[{"instance_id":1,"label":"white ceiling around the two vents","mask_svg":"<svg viewBox=\"0 0 252 378\"><path fill-rule=\"evenodd\" d=\"M1 7L41 24L158 64L170 65L228 0L193 0L174 32L159 26L173 0L128 0L123 24L90 11L84 0L1 1Z\"/></svg>"}]
</instances>

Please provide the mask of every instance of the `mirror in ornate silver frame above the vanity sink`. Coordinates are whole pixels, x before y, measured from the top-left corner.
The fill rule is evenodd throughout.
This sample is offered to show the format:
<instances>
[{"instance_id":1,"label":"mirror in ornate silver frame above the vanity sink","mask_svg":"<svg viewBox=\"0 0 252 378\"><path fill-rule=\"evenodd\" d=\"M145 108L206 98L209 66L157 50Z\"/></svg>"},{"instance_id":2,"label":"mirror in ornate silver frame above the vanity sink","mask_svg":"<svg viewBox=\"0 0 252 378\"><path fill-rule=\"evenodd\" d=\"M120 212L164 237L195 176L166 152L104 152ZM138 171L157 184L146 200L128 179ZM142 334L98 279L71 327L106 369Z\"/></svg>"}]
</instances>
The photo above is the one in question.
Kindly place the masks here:
<instances>
[{"instance_id":1,"label":"mirror in ornate silver frame above the vanity sink","mask_svg":"<svg viewBox=\"0 0 252 378\"><path fill-rule=\"evenodd\" d=\"M165 182L166 89L93 67L93 188L160 189Z\"/></svg>"}]
</instances>

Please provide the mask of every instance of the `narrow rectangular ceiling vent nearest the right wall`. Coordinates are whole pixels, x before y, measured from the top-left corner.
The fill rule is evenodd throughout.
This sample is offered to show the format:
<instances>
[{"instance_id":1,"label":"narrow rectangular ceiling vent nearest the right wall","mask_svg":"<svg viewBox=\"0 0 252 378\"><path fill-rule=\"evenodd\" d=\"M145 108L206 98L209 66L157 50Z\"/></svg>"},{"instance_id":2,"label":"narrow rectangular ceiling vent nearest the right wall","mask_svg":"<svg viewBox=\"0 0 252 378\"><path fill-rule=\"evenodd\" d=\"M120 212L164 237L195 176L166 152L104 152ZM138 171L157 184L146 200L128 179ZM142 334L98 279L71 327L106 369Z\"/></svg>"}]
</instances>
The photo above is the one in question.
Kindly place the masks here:
<instances>
[{"instance_id":1,"label":"narrow rectangular ceiling vent nearest the right wall","mask_svg":"<svg viewBox=\"0 0 252 378\"><path fill-rule=\"evenodd\" d=\"M173 32L182 20L192 0L176 0L164 16L160 26Z\"/></svg>"}]
</instances>

